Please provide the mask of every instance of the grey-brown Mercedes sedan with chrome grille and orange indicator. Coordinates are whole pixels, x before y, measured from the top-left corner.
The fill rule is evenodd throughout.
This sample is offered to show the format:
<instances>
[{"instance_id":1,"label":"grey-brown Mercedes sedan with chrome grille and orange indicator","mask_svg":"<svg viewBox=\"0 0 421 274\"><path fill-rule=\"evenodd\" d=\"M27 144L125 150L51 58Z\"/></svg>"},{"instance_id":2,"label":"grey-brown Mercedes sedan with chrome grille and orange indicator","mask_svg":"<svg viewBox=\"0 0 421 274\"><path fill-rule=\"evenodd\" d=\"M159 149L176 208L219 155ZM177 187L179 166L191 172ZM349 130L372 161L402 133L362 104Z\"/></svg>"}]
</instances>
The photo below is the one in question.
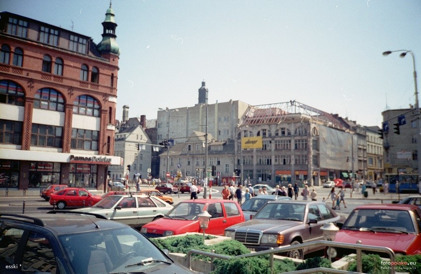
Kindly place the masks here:
<instances>
[{"instance_id":1,"label":"grey-brown Mercedes sedan with chrome grille and orange indicator","mask_svg":"<svg viewBox=\"0 0 421 274\"><path fill-rule=\"evenodd\" d=\"M252 251L294 245L323 239L325 223L342 222L329 206L320 201L269 201L253 219L225 229L225 236L242 242ZM303 259L323 246L289 251L288 257Z\"/></svg>"}]
</instances>

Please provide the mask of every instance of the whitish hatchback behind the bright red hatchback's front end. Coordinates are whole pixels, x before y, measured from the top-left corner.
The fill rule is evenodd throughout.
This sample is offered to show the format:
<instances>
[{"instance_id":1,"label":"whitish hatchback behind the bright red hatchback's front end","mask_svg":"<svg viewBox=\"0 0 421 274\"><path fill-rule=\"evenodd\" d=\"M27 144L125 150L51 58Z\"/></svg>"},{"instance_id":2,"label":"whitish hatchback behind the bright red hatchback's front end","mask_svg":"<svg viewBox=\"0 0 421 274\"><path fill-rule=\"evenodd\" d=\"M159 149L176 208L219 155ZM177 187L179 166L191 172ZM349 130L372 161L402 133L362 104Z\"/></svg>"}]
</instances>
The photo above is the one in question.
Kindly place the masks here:
<instances>
[{"instance_id":1,"label":"whitish hatchback behind the bright red hatchback's front end","mask_svg":"<svg viewBox=\"0 0 421 274\"><path fill-rule=\"evenodd\" d=\"M91 207L78 208L72 211L90 212L104 216L108 220L117 221L131 227L164 217L172 205L154 196L146 195L110 195Z\"/></svg>"}]
</instances>

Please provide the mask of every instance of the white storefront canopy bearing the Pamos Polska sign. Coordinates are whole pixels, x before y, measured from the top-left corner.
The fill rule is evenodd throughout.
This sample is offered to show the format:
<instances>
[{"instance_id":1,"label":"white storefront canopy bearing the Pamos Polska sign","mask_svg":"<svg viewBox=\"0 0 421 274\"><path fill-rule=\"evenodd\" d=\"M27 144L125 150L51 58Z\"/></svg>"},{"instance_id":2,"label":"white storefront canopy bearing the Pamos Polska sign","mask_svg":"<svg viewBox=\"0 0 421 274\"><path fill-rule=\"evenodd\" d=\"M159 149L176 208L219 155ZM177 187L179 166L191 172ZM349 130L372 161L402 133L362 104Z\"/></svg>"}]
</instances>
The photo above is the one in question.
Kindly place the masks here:
<instances>
[{"instance_id":1,"label":"white storefront canopy bearing the Pamos Polska sign","mask_svg":"<svg viewBox=\"0 0 421 274\"><path fill-rule=\"evenodd\" d=\"M122 157L109 155L60 153L45 151L24 151L0 149L0 158L23 161L45 161L59 163L91 163L104 165L122 165Z\"/></svg>"}]
</instances>

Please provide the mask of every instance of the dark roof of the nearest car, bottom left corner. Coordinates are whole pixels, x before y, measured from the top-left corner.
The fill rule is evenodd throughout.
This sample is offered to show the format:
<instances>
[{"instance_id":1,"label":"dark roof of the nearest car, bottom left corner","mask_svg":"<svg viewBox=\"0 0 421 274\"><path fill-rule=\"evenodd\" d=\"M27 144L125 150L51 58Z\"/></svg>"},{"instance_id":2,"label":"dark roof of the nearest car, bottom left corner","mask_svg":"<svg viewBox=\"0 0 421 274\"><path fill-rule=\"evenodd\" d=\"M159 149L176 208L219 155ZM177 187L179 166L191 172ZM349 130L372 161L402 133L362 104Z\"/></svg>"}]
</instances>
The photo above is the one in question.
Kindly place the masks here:
<instances>
[{"instance_id":1,"label":"dark roof of the nearest car, bottom left corner","mask_svg":"<svg viewBox=\"0 0 421 274\"><path fill-rule=\"evenodd\" d=\"M118 222L105 219L98 219L84 213L60 213L48 214L1 214L0 220L7 222L18 222L20 224L32 224L53 231L55 234L72 234L76 232L97 231L100 229L124 228Z\"/></svg>"}]
</instances>

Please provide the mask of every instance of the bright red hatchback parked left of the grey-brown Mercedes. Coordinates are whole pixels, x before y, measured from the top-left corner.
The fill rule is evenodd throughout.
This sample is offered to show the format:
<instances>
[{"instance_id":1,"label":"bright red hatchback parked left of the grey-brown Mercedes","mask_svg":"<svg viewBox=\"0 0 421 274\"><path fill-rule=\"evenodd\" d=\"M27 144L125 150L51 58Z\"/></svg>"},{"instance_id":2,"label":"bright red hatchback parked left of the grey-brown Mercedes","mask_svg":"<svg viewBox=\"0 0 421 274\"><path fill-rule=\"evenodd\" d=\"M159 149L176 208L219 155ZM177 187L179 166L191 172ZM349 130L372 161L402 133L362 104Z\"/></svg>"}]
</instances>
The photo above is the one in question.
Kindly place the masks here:
<instances>
[{"instance_id":1,"label":"bright red hatchback parked left of the grey-brown Mercedes","mask_svg":"<svg viewBox=\"0 0 421 274\"><path fill-rule=\"evenodd\" d=\"M164 218L146 224L140 230L148 237L202 232L197 215L202 211L211 214L207 234L223 235L224 229L244 222L243 211L236 201L222 199L185 200L171 209Z\"/></svg>"}]
</instances>

